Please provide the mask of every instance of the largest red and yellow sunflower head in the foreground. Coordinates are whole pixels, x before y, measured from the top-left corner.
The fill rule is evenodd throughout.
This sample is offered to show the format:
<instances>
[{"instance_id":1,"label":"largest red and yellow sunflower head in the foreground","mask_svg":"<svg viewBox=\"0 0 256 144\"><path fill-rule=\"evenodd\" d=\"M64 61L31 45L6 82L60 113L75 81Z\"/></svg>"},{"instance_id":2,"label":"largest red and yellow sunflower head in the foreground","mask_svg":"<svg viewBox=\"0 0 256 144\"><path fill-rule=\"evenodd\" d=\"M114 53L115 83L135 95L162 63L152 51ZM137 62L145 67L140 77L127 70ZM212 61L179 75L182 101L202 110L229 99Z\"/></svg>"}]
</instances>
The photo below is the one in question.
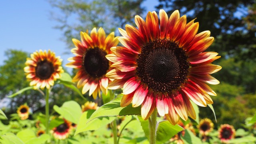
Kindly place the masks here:
<instances>
[{"instance_id":1,"label":"largest red and yellow sunflower head in the foreground","mask_svg":"<svg viewBox=\"0 0 256 144\"><path fill-rule=\"evenodd\" d=\"M174 125L179 118L196 118L189 99L199 106L213 103L209 95L216 93L206 83L219 83L209 74L221 69L211 64L220 56L204 52L214 38L209 31L196 34L198 22L187 24L178 10L169 19L164 10L159 15L160 27L156 12L148 12L146 22L135 16L138 29L119 29L123 46L111 48L113 54L106 56L114 62L106 76L114 79L108 89L123 88L122 107L141 105L144 120L157 108Z\"/></svg>"}]
</instances>

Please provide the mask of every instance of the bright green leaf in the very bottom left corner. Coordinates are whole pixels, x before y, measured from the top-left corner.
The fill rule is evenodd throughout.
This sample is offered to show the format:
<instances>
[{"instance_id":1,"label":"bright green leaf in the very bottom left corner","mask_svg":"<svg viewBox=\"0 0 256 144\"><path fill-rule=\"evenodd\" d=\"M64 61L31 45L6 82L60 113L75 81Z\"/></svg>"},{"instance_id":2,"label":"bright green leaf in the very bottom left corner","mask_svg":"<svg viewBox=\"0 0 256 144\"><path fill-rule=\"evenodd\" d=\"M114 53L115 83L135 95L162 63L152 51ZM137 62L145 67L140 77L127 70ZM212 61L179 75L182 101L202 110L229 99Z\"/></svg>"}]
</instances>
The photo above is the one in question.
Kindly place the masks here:
<instances>
[{"instance_id":1,"label":"bright green leaf in the very bottom left corner","mask_svg":"<svg viewBox=\"0 0 256 144\"><path fill-rule=\"evenodd\" d=\"M6 133L0 136L0 143L1 144L25 144L13 133Z\"/></svg>"}]
</instances>

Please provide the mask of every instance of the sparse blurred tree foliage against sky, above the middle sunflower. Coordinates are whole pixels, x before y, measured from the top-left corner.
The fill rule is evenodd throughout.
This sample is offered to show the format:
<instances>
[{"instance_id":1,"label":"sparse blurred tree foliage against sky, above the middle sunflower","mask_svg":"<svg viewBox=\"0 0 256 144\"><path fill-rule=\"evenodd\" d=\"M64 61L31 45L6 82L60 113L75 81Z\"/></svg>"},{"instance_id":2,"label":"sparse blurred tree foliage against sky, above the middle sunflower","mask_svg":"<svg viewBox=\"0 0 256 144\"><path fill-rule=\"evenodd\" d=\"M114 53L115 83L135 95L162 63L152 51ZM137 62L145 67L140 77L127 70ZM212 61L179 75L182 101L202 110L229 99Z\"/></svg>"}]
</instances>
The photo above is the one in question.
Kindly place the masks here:
<instances>
[{"instance_id":1,"label":"sparse blurred tree foliage against sky, above the middle sunflower","mask_svg":"<svg viewBox=\"0 0 256 144\"><path fill-rule=\"evenodd\" d=\"M73 48L72 38L79 38L80 31L103 27L106 33L117 32L125 24L134 21L135 15L141 15L144 0L49 0L61 14L52 18L60 23L56 28L64 32L64 41Z\"/></svg>"}]
</instances>

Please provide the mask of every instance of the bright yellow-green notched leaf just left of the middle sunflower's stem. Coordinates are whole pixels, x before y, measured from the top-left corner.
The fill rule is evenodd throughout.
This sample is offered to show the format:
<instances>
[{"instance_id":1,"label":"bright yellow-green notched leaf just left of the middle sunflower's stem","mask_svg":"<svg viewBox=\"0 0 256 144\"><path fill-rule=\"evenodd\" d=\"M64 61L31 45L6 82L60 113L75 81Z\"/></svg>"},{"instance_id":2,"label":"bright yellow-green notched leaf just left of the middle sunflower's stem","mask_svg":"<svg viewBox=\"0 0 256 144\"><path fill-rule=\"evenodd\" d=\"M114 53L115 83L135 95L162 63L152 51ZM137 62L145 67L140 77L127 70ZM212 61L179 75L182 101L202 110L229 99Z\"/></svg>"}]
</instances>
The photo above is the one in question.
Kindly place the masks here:
<instances>
[{"instance_id":1,"label":"bright yellow-green notched leaf just left of the middle sunflower's stem","mask_svg":"<svg viewBox=\"0 0 256 144\"><path fill-rule=\"evenodd\" d=\"M94 112L95 110L87 110L82 114L79 119L75 135L88 130L97 130L98 128L101 128L102 126L105 126L106 124L109 124L114 119L116 119L116 117L100 117L88 121L88 119Z\"/></svg>"}]
</instances>

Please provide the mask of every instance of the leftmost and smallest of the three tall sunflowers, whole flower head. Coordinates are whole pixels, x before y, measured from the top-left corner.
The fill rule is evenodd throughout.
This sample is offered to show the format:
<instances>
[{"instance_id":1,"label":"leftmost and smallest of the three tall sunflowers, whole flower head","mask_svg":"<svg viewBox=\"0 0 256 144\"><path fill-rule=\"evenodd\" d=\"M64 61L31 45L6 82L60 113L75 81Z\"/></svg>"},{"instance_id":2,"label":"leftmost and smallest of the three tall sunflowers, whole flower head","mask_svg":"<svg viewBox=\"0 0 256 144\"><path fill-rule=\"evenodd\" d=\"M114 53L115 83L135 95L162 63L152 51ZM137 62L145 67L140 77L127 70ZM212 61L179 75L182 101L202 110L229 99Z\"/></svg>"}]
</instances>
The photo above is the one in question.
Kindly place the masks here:
<instances>
[{"instance_id":1,"label":"leftmost and smallest of the three tall sunflowers, whole flower head","mask_svg":"<svg viewBox=\"0 0 256 144\"><path fill-rule=\"evenodd\" d=\"M60 57L55 57L55 53L48 50L39 50L30 55L31 58L27 58L26 67L26 78L30 80L30 86L34 86L34 89L41 88L50 89L53 86L54 81L60 78L62 70Z\"/></svg>"}]
</instances>

